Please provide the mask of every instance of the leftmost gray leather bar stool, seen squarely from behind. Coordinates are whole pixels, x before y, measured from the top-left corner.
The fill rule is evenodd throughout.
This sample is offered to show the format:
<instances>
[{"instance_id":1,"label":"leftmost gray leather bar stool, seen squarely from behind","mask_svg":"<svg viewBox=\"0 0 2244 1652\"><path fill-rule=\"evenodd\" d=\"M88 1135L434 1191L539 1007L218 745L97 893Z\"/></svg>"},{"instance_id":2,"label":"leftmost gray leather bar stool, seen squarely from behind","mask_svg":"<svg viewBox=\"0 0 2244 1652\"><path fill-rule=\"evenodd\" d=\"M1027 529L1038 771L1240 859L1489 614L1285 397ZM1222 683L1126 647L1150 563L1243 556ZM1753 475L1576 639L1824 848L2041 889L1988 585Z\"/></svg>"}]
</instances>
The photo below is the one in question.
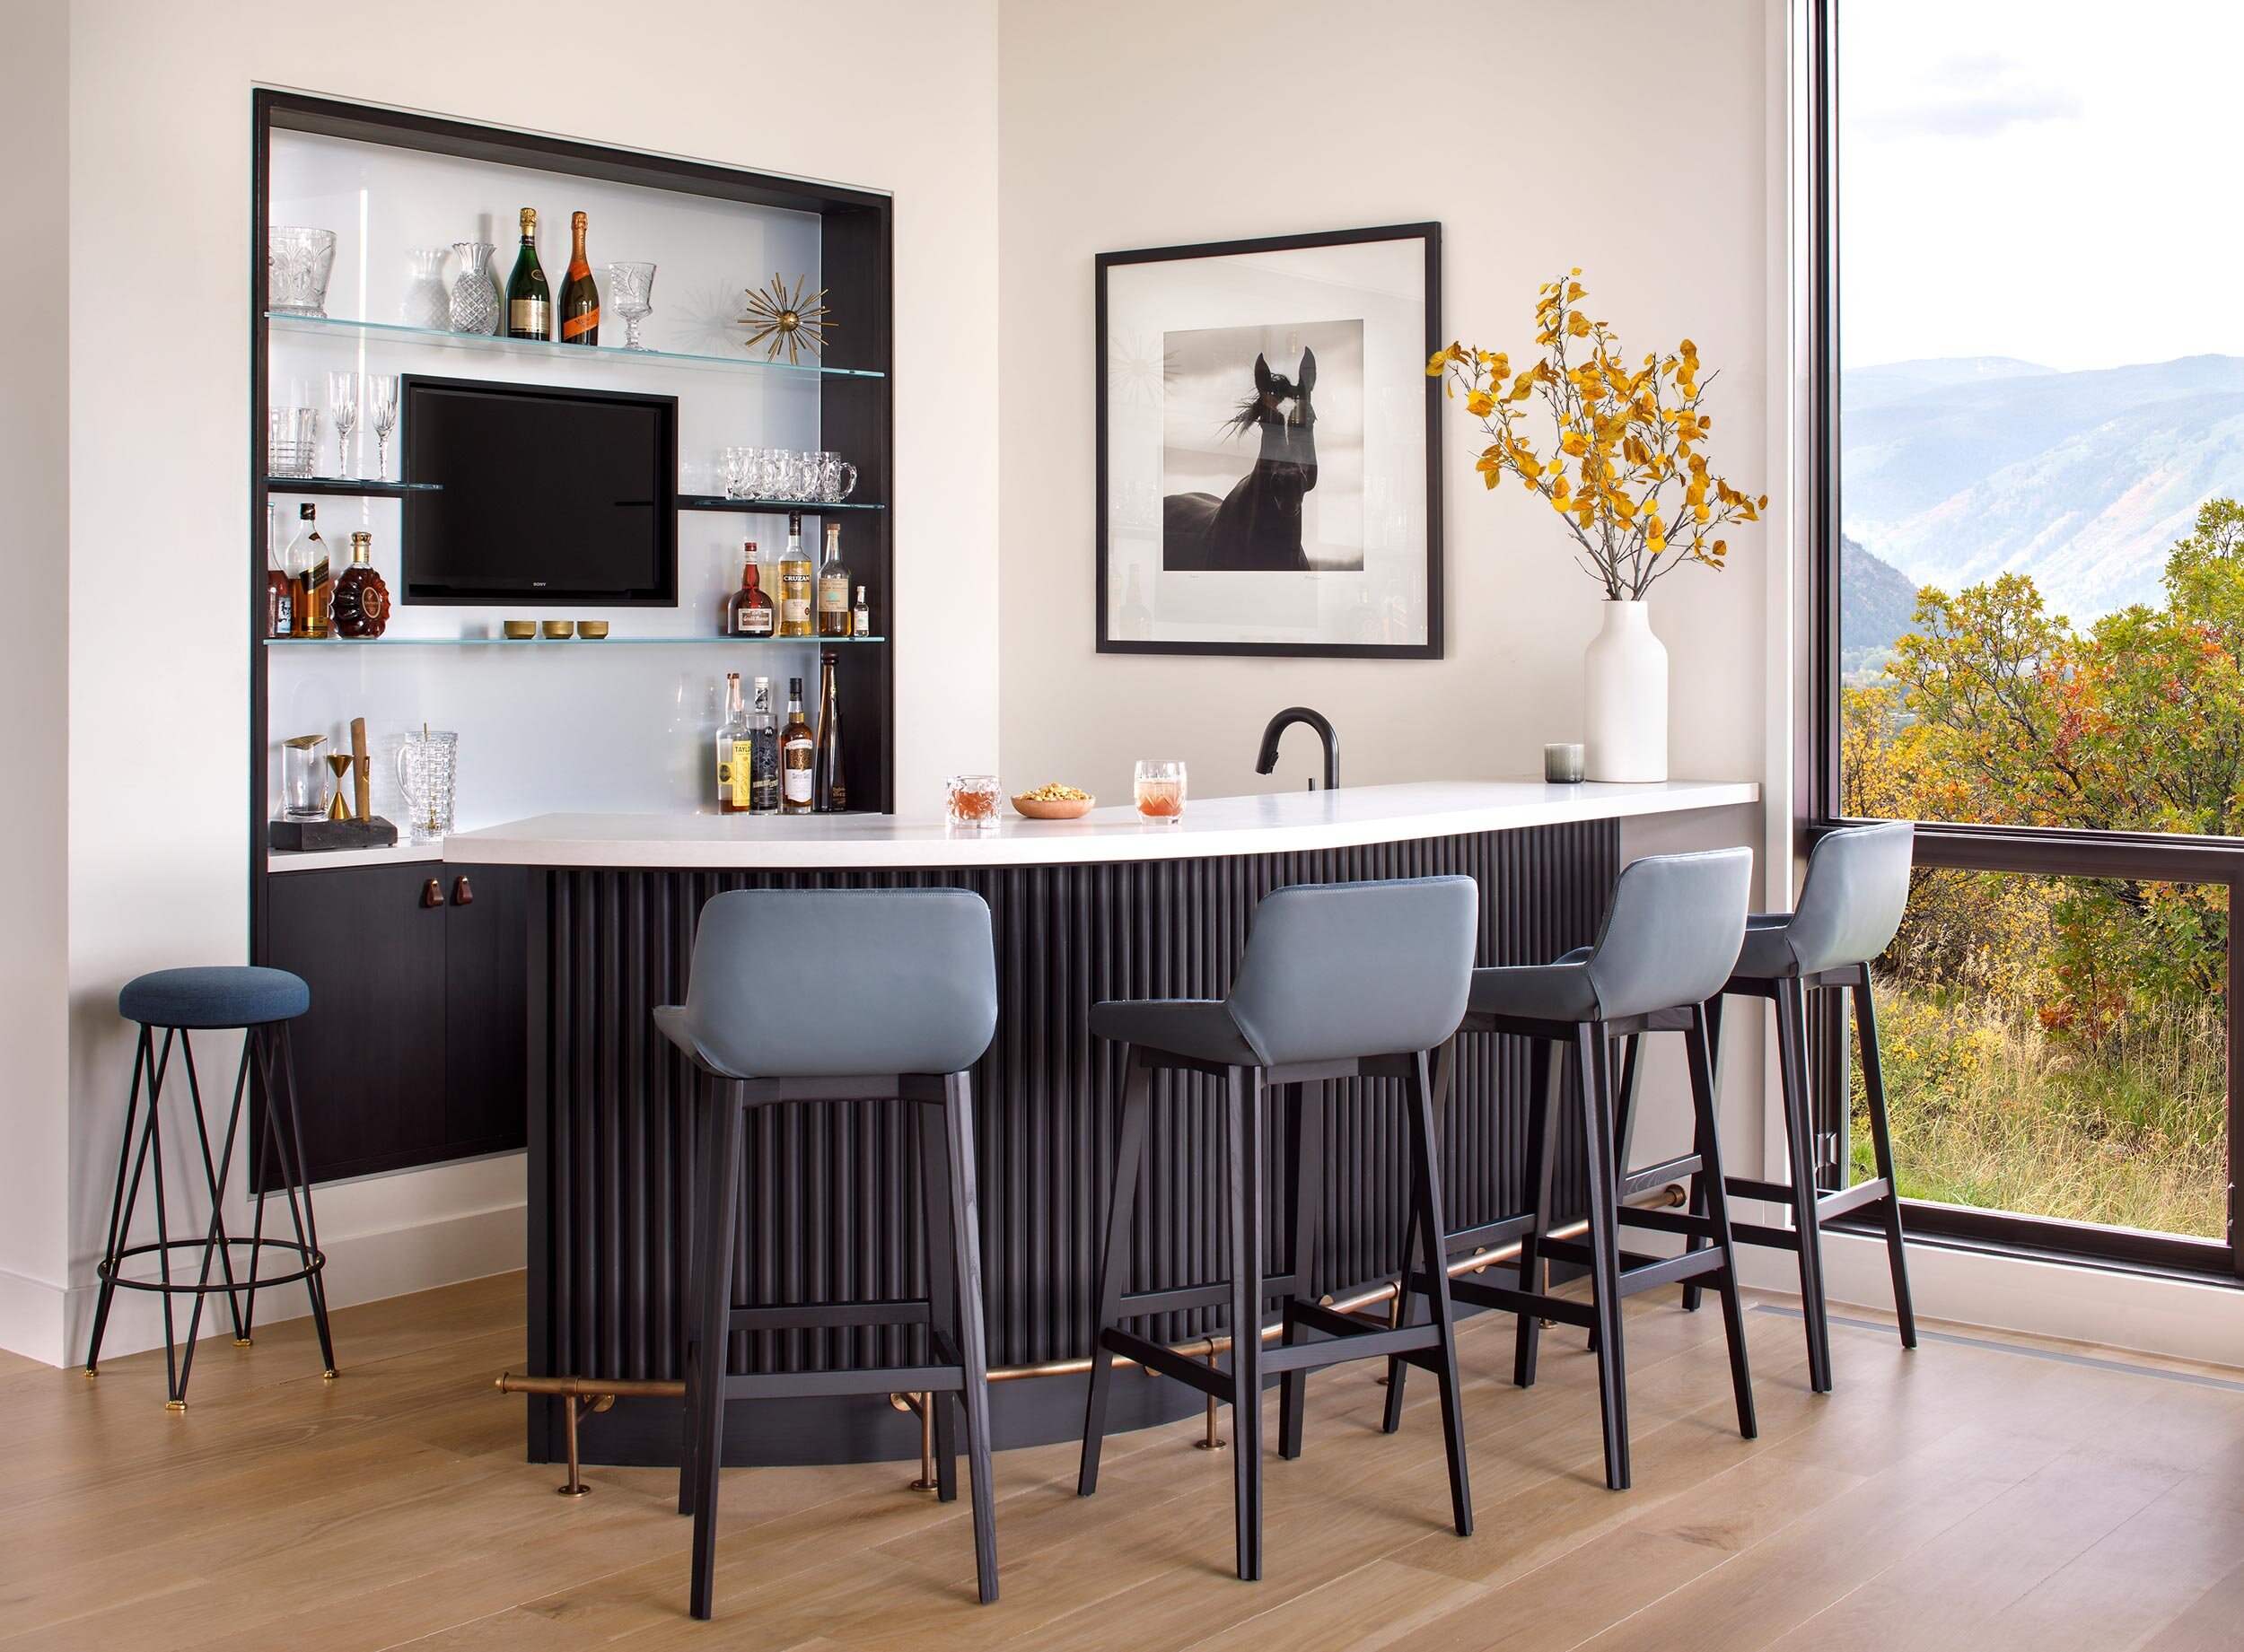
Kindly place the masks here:
<instances>
[{"instance_id":1,"label":"leftmost gray leather bar stool, seen squarely from behind","mask_svg":"<svg viewBox=\"0 0 2244 1652\"><path fill-rule=\"evenodd\" d=\"M738 889L702 907L684 1006L655 1026L693 1068L700 1138L687 1275L684 1448L678 1513L693 1515L696 1618L716 1578L718 1468L727 1398L918 1392L936 1407L938 1495L956 1493L954 1419L965 1412L974 1562L996 1600L990 1392L974 1208L974 1093L967 1068L996 1030L990 907L969 889ZM922 1102L927 1297L734 1306L734 1232L749 1107ZM936 1134L940 1129L940 1136ZM853 1371L736 1376L745 1331L925 1324L927 1360Z\"/></svg>"}]
</instances>

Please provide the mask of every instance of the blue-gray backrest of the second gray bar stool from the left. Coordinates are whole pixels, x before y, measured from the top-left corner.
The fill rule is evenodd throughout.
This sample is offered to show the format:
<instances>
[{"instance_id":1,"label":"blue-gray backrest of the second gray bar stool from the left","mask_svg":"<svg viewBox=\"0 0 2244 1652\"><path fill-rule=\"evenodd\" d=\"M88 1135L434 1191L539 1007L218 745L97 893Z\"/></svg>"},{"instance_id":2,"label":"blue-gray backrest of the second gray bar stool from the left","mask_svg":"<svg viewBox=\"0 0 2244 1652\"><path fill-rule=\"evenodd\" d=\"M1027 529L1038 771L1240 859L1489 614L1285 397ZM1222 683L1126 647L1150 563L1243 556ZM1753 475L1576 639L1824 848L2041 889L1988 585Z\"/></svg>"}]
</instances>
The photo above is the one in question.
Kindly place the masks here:
<instances>
[{"instance_id":1,"label":"blue-gray backrest of the second gray bar stool from the left","mask_svg":"<svg viewBox=\"0 0 2244 1652\"><path fill-rule=\"evenodd\" d=\"M1232 1021L1270 1066L1432 1050L1465 1019L1479 923L1470 878L1272 889Z\"/></svg>"}]
</instances>

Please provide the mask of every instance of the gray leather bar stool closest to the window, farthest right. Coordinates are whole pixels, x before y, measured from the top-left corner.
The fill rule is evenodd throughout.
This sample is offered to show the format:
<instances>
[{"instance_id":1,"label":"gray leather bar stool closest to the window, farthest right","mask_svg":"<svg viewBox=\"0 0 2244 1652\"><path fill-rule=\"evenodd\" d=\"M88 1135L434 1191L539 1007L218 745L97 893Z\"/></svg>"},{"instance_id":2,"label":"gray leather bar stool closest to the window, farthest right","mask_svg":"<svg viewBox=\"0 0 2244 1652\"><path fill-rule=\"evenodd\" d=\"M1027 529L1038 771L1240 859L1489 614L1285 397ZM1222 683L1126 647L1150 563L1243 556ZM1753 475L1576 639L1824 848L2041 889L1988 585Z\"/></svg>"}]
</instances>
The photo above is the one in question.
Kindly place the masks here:
<instances>
[{"instance_id":1,"label":"gray leather bar stool closest to the window, farthest right","mask_svg":"<svg viewBox=\"0 0 2244 1652\"><path fill-rule=\"evenodd\" d=\"M1777 1012L1777 1068L1784 1095L1784 1142L1791 1181L1730 1176L1728 1190L1744 1199L1766 1199L1793 1212L1791 1228L1735 1223L1739 1243L1773 1246L1800 1257L1800 1309L1806 1318L1809 1387L1831 1392L1831 1313L1824 1304L1822 1226L1838 1217L1876 1208L1885 1226L1885 1261L1894 1277L1894 1318L1901 1347L1916 1347L1916 1313L1910 1304L1910 1257L1901 1232L1901 1194L1894 1187L1894 1138L1885 1118L1885 1068L1878 1059L1878 1010L1869 992L1869 963L1901 929L1910 905L1910 862L1916 828L1905 822L1847 826L1824 833L1809 851L1806 880L1793 911L1757 911L1746 920L1746 945L1723 992L1768 999ZM1869 1111L1869 1147L1876 1176L1845 1183L1847 1165L1827 1163L1824 1138L1815 1131L1809 1089L1809 1021L1813 992L1845 992L1854 1001L1854 1035L1863 1062ZM1719 1053L1721 1010L1717 999L1714 1039ZM1824 1190L1820 1174L1836 1172L1838 1190ZM1694 1208L1703 1190L1694 1187ZM1696 1293L1685 1293L1696 1306Z\"/></svg>"}]
</instances>

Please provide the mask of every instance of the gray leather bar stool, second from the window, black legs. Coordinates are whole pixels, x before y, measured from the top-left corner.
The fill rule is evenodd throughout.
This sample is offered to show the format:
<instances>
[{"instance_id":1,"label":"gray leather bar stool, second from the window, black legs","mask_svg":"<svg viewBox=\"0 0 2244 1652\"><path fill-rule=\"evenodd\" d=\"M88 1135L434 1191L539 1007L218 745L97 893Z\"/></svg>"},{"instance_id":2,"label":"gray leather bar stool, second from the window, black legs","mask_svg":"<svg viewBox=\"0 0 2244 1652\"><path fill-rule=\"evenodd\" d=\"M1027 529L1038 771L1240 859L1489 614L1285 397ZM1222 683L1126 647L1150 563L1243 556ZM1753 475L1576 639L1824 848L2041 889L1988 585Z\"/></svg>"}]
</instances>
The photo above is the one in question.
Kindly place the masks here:
<instances>
[{"instance_id":1,"label":"gray leather bar stool, second from the window, black legs","mask_svg":"<svg viewBox=\"0 0 2244 1652\"><path fill-rule=\"evenodd\" d=\"M1737 1257L1723 1199L1721 1140L1714 1129L1714 1064L1708 999L1721 992L1746 934L1753 882L1750 848L1696 855L1647 855L1629 862L1613 884L1598 943L1557 963L1472 972L1472 1001L1459 1037L1510 1032L1533 1039L1533 1084L1526 1138L1526 1230L1519 1237L1519 1286L1456 1279L1459 1302L1519 1315L1512 1380L1535 1383L1535 1353L1544 1320L1589 1329L1598 1353L1598 1401L1604 1423L1604 1484L1629 1486L1629 1396L1622 1358L1620 1302L1685 1279L1721 1293L1730 1342L1730 1387L1737 1432L1755 1437L1753 1376L1746 1369L1746 1322L1737 1300ZM1692 1154L1654 1169L1629 1172L1625 1127L1616 1116L1613 1041L1643 1032L1681 1032L1690 1064ZM1551 1237L1557 1210L1553 1181L1560 1136L1560 1073L1571 1073L1582 1120L1589 1181L1589 1243ZM1703 1210L1634 1210L1627 1199L1656 1181L1705 1172ZM1683 1235L1692 1246L1676 1257L1645 1257L1620 1248L1622 1223ZM1488 1230L1450 1235L1432 1255L1472 1250ZM1548 1261L1589 1268L1587 1304L1542 1288ZM1423 1266L1414 1259L1414 1266ZM1387 1430L1403 1421L1403 1367L1389 1367Z\"/></svg>"}]
</instances>

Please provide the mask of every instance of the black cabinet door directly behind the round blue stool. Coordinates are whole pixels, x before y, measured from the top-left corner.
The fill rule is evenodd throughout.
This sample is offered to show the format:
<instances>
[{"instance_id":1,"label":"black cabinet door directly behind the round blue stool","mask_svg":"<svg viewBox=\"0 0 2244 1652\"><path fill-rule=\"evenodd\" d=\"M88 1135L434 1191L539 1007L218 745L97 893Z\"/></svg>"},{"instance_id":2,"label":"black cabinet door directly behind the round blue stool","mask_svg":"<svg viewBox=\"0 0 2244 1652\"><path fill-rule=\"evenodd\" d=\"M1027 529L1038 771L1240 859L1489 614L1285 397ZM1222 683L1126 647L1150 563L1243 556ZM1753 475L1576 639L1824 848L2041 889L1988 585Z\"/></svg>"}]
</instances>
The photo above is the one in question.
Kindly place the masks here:
<instances>
[{"instance_id":1,"label":"black cabinet door directly behind the round blue stool","mask_svg":"<svg viewBox=\"0 0 2244 1652\"><path fill-rule=\"evenodd\" d=\"M289 1026L312 1181L442 1158L444 920L438 864L267 878L267 963L301 974Z\"/></svg>"}]
</instances>

